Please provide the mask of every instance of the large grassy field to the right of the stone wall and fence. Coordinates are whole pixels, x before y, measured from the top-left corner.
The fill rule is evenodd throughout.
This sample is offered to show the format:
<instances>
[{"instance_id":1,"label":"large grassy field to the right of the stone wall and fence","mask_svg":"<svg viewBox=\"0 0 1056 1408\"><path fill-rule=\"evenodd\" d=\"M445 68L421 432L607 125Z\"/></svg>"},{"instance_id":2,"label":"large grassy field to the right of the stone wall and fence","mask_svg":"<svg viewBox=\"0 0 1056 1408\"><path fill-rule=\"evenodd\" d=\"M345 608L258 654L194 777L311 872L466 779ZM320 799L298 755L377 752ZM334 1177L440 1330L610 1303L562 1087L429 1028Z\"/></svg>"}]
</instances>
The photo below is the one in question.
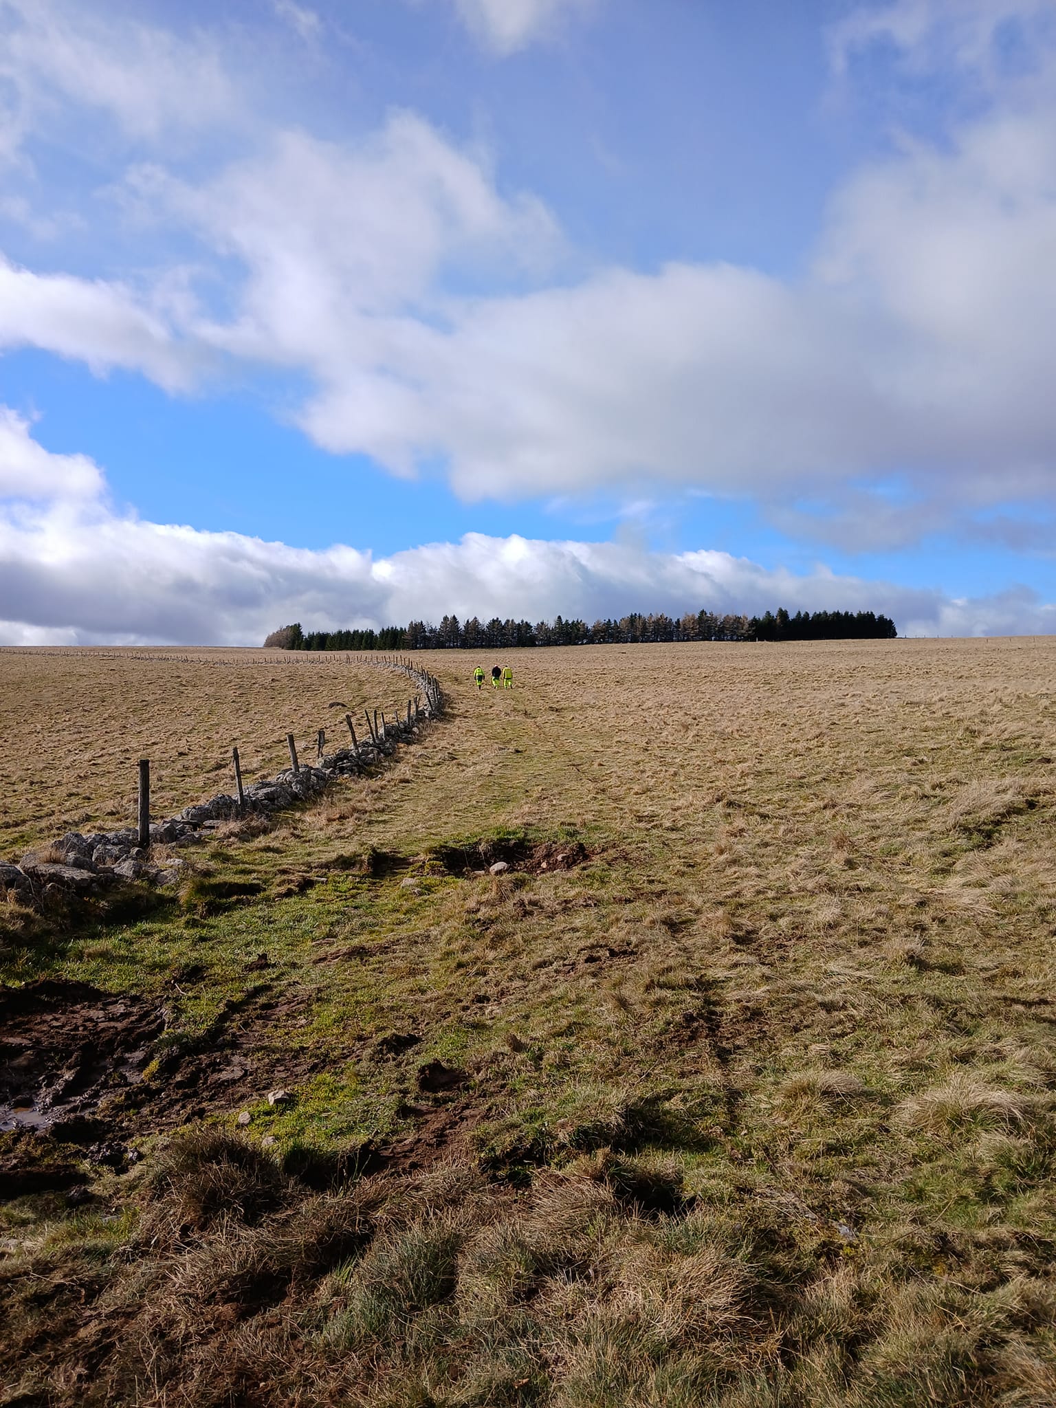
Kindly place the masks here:
<instances>
[{"instance_id":1,"label":"large grassy field to the right of the stone wall and fence","mask_svg":"<svg viewBox=\"0 0 1056 1408\"><path fill-rule=\"evenodd\" d=\"M0 1136L1 1401L1056 1404L1056 641L508 658L179 898L11 912L8 1031L158 1033ZM103 663L238 741L224 669ZM297 670L313 731L400 694Z\"/></svg>"}]
</instances>

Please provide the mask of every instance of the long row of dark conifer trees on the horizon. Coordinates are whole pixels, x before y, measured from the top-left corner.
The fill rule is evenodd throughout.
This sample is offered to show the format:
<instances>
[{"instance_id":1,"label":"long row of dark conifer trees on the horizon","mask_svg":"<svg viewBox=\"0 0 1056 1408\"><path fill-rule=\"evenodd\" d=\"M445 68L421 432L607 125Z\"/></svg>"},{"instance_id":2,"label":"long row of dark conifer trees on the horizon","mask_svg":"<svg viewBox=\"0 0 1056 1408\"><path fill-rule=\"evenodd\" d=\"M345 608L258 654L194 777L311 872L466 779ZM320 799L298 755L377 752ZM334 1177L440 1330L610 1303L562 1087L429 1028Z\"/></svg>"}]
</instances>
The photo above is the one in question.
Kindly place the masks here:
<instances>
[{"instance_id":1,"label":"long row of dark conifer trees on the horizon","mask_svg":"<svg viewBox=\"0 0 1056 1408\"><path fill-rule=\"evenodd\" d=\"M300 622L280 627L265 641L279 650L484 650L527 645L639 645L677 641L893 641L898 635L890 617L874 611L797 611L784 607L760 617L717 615L687 611L669 617L663 611L586 621L555 617L553 621L459 621L445 615L439 625L411 621L380 631L303 631Z\"/></svg>"}]
</instances>

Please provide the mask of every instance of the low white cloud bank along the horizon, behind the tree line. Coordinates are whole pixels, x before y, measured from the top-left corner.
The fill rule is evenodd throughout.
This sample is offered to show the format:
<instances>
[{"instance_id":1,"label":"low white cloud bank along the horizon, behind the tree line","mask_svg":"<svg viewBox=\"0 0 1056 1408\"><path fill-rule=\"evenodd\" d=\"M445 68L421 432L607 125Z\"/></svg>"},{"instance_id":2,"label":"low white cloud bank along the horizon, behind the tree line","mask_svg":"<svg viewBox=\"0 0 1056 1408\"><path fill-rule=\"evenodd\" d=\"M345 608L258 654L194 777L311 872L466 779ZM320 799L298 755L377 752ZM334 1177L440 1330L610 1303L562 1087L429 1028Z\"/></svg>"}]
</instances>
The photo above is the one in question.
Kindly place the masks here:
<instances>
[{"instance_id":1,"label":"low white cloud bank along the horizon, behind the tree line","mask_svg":"<svg viewBox=\"0 0 1056 1408\"><path fill-rule=\"evenodd\" d=\"M27 489L27 484L30 486ZM411 618L680 614L786 605L869 608L910 634L1056 629L1056 605L1025 589L974 601L824 566L796 574L725 552L649 552L629 543L466 534L375 559L115 514L97 467L51 455L13 413L0 415L0 643L255 643L286 621L307 628Z\"/></svg>"}]
</instances>

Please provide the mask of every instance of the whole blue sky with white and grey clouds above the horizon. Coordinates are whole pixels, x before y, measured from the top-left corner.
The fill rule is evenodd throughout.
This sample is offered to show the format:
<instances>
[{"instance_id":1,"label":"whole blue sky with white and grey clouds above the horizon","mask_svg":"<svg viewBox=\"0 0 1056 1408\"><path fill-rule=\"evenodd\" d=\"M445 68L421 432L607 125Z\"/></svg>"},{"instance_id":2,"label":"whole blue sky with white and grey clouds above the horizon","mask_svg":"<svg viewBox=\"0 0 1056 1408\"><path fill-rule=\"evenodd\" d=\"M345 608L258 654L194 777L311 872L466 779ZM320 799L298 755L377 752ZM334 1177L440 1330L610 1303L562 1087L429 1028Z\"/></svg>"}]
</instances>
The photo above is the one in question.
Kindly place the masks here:
<instances>
[{"instance_id":1,"label":"whole blue sky with white and grey clouds above the horizon","mask_svg":"<svg viewBox=\"0 0 1056 1408\"><path fill-rule=\"evenodd\" d=\"M0 0L0 645L1056 632L1056 0Z\"/></svg>"}]
</instances>

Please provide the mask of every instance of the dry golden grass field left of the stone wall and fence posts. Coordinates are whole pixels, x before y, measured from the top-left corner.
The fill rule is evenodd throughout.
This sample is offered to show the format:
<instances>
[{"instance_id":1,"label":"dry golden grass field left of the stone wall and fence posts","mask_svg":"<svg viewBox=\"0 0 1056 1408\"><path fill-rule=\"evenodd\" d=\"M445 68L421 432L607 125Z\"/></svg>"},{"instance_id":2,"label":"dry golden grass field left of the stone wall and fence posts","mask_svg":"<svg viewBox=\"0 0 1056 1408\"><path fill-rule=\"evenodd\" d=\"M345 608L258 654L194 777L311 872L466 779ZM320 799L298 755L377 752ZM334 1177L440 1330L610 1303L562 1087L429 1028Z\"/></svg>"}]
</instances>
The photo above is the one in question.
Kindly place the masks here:
<instances>
[{"instance_id":1,"label":"dry golden grass field left of the stone wall and fence posts","mask_svg":"<svg viewBox=\"0 0 1056 1408\"><path fill-rule=\"evenodd\" d=\"M275 650L0 649L0 857L69 829L110 831L135 814L137 759L152 763L153 814L231 791L242 776L303 762L315 734L345 746L345 712L407 708L404 680L345 655ZM331 708L341 701L342 708Z\"/></svg>"}]
</instances>

